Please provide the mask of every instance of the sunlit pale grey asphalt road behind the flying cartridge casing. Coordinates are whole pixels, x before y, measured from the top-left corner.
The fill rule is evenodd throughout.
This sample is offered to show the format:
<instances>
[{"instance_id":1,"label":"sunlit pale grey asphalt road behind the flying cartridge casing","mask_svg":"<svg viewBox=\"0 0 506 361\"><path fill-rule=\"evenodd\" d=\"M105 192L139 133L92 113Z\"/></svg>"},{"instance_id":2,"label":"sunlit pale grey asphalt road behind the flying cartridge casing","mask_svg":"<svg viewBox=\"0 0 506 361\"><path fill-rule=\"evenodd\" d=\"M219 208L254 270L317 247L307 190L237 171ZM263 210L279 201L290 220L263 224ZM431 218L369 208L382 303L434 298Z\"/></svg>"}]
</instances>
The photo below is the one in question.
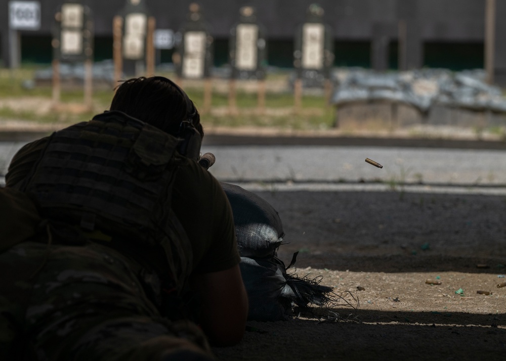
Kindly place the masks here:
<instances>
[{"instance_id":1,"label":"sunlit pale grey asphalt road behind the flying cartridge casing","mask_svg":"<svg viewBox=\"0 0 506 361\"><path fill-rule=\"evenodd\" d=\"M26 142L0 143L0 176ZM305 189L325 187L463 187L506 189L506 150L378 145L213 145L209 168L223 182ZM365 162L370 158L383 165ZM0 178L0 182L2 179Z\"/></svg>"}]
</instances>

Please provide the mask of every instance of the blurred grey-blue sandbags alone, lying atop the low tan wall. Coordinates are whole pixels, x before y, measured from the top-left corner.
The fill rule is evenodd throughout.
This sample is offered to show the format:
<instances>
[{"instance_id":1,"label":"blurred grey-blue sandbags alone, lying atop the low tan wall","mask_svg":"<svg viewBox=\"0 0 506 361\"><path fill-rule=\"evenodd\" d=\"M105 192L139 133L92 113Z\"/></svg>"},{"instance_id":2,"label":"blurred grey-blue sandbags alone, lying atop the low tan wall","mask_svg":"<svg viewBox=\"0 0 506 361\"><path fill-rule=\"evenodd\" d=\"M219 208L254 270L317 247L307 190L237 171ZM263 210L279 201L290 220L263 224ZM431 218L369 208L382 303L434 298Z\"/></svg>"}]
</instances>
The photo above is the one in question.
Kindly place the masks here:
<instances>
[{"instance_id":1,"label":"blurred grey-blue sandbags alone, lying atop the low tan wall","mask_svg":"<svg viewBox=\"0 0 506 361\"><path fill-rule=\"evenodd\" d=\"M445 69L376 73L352 70L338 80L332 104L386 100L427 112L436 104L506 112L501 89L483 81L483 71L452 73Z\"/></svg>"}]
</instances>

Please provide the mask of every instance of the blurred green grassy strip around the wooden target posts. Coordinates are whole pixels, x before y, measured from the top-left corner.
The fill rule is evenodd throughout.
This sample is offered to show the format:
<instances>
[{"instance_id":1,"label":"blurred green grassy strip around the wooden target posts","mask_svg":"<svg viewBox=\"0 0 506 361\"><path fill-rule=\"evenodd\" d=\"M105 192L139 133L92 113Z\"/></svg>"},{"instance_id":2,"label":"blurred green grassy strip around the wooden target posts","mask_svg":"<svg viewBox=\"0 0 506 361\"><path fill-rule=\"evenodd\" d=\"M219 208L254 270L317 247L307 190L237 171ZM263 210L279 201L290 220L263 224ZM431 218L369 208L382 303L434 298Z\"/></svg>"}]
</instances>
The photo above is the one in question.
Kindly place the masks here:
<instances>
[{"instance_id":1,"label":"blurred green grassy strip around the wooden target posts","mask_svg":"<svg viewBox=\"0 0 506 361\"><path fill-rule=\"evenodd\" d=\"M37 85L27 87L23 84L33 82L34 73L37 69L36 65L23 65L19 69L0 69L0 119L14 119L34 121L38 123L76 123L91 119L95 114L107 110L113 98L114 91L111 85L107 88L94 88L93 90L93 112L71 112L62 110L58 112L50 112L42 114L36 109L12 109L2 99L29 98L37 97L52 101L51 85ZM47 66L45 66L47 68ZM175 78L174 74L160 73L170 78ZM228 112L229 95L228 87L223 86L224 80L213 82L212 102L210 112L202 115L202 122L207 125L214 126L255 126L255 127L276 127L285 129L327 129L333 126L334 109L325 104L323 96L304 94L302 98L301 111L294 112L294 98L289 89L276 91L276 87L269 89L269 81L276 82L278 89L279 84L283 81L288 82L289 73L269 75L266 79L267 92L265 95L266 111L262 114L257 112L258 95L256 92L245 91L238 88L236 92L237 114ZM221 81L221 86L219 82ZM185 91L190 99L194 101L197 108L203 113L204 105L204 86L202 83L193 83L192 85L183 84ZM61 86L61 103L82 104L83 88L79 86L65 87Z\"/></svg>"}]
</instances>

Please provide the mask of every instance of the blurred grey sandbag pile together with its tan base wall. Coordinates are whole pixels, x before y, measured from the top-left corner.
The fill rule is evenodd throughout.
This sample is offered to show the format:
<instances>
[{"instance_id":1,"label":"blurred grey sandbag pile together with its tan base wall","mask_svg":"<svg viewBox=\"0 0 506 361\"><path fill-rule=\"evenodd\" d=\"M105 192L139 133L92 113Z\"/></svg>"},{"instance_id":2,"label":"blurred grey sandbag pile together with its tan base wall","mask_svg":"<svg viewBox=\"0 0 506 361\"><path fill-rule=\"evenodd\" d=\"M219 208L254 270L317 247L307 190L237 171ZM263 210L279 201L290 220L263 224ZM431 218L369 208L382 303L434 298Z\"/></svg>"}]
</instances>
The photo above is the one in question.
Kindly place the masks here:
<instances>
[{"instance_id":1,"label":"blurred grey sandbag pile together with its tan base wall","mask_svg":"<svg viewBox=\"0 0 506 361\"><path fill-rule=\"evenodd\" d=\"M378 73L347 69L337 74L331 103L337 108L338 126L353 122L389 128L413 124L506 126L506 99L498 86L485 83L483 70Z\"/></svg>"}]
</instances>

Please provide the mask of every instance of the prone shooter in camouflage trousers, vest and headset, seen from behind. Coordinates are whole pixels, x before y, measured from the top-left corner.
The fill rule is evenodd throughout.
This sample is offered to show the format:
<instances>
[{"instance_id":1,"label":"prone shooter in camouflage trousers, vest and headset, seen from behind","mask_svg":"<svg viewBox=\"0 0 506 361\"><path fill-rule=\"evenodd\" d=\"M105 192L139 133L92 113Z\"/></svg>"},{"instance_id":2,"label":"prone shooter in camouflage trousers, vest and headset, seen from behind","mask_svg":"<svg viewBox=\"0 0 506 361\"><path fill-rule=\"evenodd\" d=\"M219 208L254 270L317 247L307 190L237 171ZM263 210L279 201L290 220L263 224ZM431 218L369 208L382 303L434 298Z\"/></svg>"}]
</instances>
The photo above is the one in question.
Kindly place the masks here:
<instances>
[{"instance_id":1,"label":"prone shooter in camouflage trousers, vest and headset, seen from behind","mask_svg":"<svg viewBox=\"0 0 506 361\"><path fill-rule=\"evenodd\" d=\"M240 341L233 216L198 164L202 137L179 86L141 77L15 155L0 189L1 359L208 360L209 343Z\"/></svg>"}]
</instances>

